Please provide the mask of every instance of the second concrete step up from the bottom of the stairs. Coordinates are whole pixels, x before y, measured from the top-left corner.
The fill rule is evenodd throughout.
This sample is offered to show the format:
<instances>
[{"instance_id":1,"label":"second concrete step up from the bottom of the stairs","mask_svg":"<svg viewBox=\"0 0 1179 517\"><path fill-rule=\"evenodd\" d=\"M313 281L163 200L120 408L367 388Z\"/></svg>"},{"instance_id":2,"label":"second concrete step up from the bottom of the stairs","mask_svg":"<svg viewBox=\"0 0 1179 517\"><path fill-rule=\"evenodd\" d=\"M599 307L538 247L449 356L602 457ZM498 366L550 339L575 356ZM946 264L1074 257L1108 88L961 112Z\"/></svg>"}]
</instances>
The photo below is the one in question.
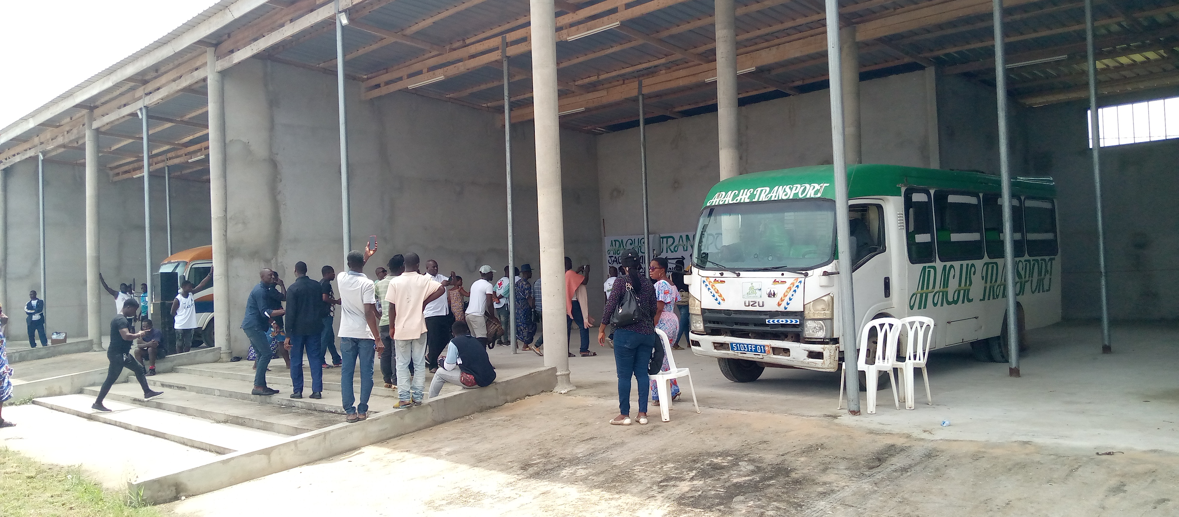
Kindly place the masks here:
<instances>
[{"instance_id":1,"label":"second concrete step up from the bottom of the stairs","mask_svg":"<svg viewBox=\"0 0 1179 517\"><path fill-rule=\"evenodd\" d=\"M99 389L95 386L83 389L81 392L90 397L91 404L93 404L93 397L98 396L98 391ZM106 399L288 436L311 432L342 422L341 417L332 413L177 390L169 390L159 397L144 400L143 390L134 382L116 384L111 387ZM87 405L87 407L90 406ZM107 405L107 407L111 406Z\"/></svg>"}]
</instances>

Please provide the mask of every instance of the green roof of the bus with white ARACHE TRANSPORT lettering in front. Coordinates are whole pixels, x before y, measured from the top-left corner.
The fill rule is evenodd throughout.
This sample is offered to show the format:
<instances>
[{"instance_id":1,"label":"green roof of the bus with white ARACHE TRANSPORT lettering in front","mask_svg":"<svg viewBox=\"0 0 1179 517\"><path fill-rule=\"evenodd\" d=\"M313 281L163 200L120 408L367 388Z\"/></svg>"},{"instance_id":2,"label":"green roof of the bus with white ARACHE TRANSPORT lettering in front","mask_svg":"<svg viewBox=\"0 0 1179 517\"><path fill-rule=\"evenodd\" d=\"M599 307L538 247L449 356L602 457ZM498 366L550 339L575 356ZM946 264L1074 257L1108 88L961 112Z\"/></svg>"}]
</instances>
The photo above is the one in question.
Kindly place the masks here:
<instances>
[{"instance_id":1,"label":"green roof of the bus with white ARACHE TRANSPORT lettering in front","mask_svg":"<svg viewBox=\"0 0 1179 517\"><path fill-rule=\"evenodd\" d=\"M729 178L709 191L704 206L777 199L835 198L834 166L782 168ZM948 188L971 192L1000 192L1000 178L971 171L905 167L901 165L851 165L848 167L848 198L901 195L904 187ZM1052 178L1012 178L1013 195L1054 198Z\"/></svg>"}]
</instances>

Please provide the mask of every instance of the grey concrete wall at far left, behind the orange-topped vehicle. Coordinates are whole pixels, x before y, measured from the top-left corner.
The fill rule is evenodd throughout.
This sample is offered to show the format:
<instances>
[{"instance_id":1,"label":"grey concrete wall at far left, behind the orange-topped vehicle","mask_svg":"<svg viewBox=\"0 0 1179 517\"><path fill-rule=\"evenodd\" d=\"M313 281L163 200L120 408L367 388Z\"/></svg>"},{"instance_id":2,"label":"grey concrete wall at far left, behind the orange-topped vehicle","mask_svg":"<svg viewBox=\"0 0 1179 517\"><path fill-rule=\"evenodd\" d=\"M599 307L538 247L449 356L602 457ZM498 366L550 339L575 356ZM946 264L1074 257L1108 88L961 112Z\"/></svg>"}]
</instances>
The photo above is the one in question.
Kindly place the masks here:
<instances>
[{"instance_id":1,"label":"grey concrete wall at far left, behind the orange-topped vehicle","mask_svg":"<svg viewBox=\"0 0 1179 517\"><path fill-rule=\"evenodd\" d=\"M24 304L28 291L40 291L38 248L37 159L7 171L8 253L5 263L7 298L4 307L12 318L8 338L27 339ZM105 175L105 172L103 172ZM172 248L210 243L209 184L172 180ZM48 331L86 334L86 183L85 168L45 164L45 233L48 264L46 301ZM99 179L100 271L107 284L144 281L143 180L111 183ZM164 221L164 180L152 178L152 260L159 264L167 252ZM138 287L137 287L138 289ZM114 316L114 301L103 293L103 314Z\"/></svg>"}]
</instances>

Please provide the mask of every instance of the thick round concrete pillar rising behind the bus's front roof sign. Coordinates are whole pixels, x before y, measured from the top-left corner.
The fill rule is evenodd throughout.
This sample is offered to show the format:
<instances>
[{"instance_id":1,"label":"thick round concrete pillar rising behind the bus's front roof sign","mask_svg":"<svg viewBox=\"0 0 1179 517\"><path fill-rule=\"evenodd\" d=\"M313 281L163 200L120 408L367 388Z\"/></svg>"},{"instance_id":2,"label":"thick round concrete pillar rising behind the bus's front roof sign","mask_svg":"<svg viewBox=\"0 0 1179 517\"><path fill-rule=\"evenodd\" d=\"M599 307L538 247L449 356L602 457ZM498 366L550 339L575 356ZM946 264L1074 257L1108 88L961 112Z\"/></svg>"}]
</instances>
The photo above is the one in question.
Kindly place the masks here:
<instances>
[{"instance_id":1,"label":"thick round concrete pillar rising behind the bus's front roof sign","mask_svg":"<svg viewBox=\"0 0 1179 517\"><path fill-rule=\"evenodd\" d=\"M737 18L733 0L717 0L717 139L720 179L740 174L737 132Z\"/></svg>"}]
</instances>

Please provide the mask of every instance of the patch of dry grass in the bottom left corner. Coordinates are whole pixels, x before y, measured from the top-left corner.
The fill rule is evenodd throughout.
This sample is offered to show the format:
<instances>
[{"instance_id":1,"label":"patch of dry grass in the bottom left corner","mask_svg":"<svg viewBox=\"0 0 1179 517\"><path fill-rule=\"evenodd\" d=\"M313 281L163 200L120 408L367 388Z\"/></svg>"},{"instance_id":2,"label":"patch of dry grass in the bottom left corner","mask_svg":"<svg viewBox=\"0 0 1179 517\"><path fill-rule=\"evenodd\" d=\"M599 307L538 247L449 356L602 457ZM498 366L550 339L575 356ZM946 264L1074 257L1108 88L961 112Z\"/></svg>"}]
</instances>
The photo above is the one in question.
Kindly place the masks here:
<instances>
[{"instance_id":1,"label":"patch of dry grass in the bottom left corner","mask_svg":"<svg viewBox=\"0 0 1179 517\"><path fill-rule=\"evenodd\" d=\"M0 448L0 516L159 517L141 495L111 493L77 466L46 465Z\"/></svg>"}]
</instances>

